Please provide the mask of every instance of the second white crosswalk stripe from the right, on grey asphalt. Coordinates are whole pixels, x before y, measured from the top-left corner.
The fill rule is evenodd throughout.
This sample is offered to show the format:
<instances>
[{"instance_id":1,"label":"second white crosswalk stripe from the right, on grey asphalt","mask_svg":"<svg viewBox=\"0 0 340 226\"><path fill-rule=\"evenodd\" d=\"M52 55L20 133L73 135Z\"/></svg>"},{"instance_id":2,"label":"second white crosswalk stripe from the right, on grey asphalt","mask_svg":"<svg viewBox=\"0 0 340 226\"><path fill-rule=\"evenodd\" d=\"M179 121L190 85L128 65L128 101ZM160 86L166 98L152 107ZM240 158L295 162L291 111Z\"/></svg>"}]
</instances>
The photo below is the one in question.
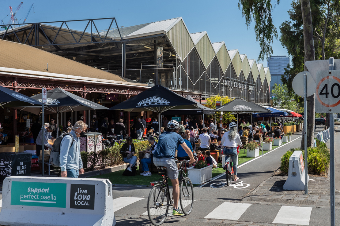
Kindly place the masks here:
<instances>
[{"instance_id":1,"label":"second white crosswalk stripe from the right, on grey asphalt","mask_svg":"<svg viewBox=\"0 0 340 226\"><path fill-rule=\"evenodd\" d=\"M237 221L251 205L250 203L225 202L212 210L205 218Z\"/></svg>"}]
</instances>

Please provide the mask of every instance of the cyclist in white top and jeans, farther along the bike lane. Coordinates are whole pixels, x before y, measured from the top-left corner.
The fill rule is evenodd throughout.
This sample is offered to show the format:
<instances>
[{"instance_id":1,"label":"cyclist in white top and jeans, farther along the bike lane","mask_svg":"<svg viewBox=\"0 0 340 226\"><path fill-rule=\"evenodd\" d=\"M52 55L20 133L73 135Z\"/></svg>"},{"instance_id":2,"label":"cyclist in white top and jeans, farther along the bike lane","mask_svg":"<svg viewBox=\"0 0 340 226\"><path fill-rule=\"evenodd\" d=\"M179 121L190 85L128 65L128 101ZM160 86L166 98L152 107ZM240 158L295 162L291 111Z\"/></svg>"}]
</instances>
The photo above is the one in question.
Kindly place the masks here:
<instances>
[{"instance_id":1,"label":"cyclist in white top and jeans, farther along the bike lane","mask_svg":"<svg viewBox=\"0 0 340 226\"><path fill-rule=\"evenodd\" d=\"M223 154L224 155L231 155L232 158L232 162L233 162L233 170L234 170L234 181L238 181L238 177L237 177L237 146L240 146L241 148L243 148L242 142L241 142L241 138L239 133L237 132L237 125L235 122L231 122L229 124L229 131L225 132L221 143L223 145ZM225 159L226 162L228 160L228 158ZM226 164L225 164L226 165Z\"/></svg>"}]
</instances>

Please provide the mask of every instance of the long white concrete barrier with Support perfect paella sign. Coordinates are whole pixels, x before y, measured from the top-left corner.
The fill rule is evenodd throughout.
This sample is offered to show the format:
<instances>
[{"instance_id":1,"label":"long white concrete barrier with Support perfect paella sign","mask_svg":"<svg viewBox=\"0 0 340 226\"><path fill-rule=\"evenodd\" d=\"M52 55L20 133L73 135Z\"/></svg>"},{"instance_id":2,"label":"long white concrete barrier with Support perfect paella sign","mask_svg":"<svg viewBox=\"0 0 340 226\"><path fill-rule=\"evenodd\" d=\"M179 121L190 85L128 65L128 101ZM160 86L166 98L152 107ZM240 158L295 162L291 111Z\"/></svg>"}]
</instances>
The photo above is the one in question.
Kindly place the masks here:
<instances>
[{"instance_id":1,"label":"long white concrete barrier with Support perfect paella sign","mask_svg":"<svg viewBox=\"0 0 340 226\"><path fill-rule=\"evenodd\" d=\"M107 179L7 177L0 225L114 226Z\"/></svg>"}]
</instances>

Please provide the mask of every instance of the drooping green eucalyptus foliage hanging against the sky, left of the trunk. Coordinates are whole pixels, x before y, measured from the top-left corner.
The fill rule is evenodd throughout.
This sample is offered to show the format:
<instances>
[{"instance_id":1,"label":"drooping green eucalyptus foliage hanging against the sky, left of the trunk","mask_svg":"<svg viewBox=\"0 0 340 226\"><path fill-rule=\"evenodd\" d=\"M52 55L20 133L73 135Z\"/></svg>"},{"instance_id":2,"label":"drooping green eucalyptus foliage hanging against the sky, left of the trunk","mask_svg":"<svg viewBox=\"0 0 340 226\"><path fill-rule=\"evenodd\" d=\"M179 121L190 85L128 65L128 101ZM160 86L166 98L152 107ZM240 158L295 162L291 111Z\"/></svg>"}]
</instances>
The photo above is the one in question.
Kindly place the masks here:
<instances>
[{"instance_id":1,"label":"drooping green eucalyptus foliage hanging against the sky, left of the trunk","mask_svg":"<svg viewBox=\"0 0 340 226\"><path fill-rule=\"evenodd\" d=\"M275 0L279 4L280 0ZM273 37L277 39L277 30L272 20L271 0L239 0L238 8L242 7L242 15L245 23L249 27L251 22L255 22L256 41L259 42L261 50L258 60L273 54Z\"/></svg>"}]
</instances>

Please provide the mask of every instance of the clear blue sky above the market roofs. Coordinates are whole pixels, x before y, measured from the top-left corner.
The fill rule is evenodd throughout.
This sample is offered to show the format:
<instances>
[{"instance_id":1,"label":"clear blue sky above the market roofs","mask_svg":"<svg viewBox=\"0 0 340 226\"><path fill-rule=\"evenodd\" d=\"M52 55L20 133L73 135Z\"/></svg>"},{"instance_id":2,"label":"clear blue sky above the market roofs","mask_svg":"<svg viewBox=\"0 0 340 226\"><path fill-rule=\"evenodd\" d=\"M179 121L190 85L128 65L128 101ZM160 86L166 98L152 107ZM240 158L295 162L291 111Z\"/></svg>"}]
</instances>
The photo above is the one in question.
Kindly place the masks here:
<instances>
[{"instance_id":1,"label":"clear blue sky above the market roofs","mask_svg":"<svg viewBox=\"0 0 340 226\"><path fill-rule=\"evenodd\" d=\"M237 0L22 1L23 8L20 8L16 15L18 20L21 19L21 23L32 3L34 9L32 8L26 23L115 17L118 26L132 26L182 17L190 33L206 31L211 42L224 41L227 49L238 49L240 54L246 54L249 59L257 60L260 51L255 39L254 26L251 24L251 27L247 28L242 12L237 8ZM10 16L7 16L9 6L15 11L20 2L0 0L0 20L7 23L10 20ZM278 32L280 24L289 19L287 11L290 3L291 1L287 0L280 1L273 9L273 22ZM69 26L70 29L83 30L85 25L74 23ZM106 29L108 25L103 22L98 29ZM286 49L278 40L274 40L273 50L274 56L287 55ZM267 65L266 60L258 63Z\"/></svg>"}]
</instances>

